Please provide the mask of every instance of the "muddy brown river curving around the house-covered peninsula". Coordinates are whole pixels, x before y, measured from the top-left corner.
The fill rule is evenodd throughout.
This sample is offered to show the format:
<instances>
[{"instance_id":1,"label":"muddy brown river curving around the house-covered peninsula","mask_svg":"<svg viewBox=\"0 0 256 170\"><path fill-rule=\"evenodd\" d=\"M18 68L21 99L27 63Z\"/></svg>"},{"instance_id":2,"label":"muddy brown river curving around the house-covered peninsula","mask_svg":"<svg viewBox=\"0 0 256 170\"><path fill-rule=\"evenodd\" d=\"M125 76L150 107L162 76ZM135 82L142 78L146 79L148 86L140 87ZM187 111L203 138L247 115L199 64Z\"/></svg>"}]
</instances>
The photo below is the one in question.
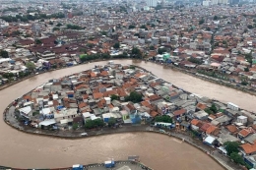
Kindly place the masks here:
<instances>
[{"instance_id":1,"label":"muddy brown river curving around the house-covered peninsula","mask_svg":"<svg viewBox=\"0 0 256 170\"><path fill-rule=\"evenodd\" d=\"M254 107L256 97L253 95L205 82L170 69L163 69L161 66L150 62L133 62L131 60L115 60L114 62L144 67L161 79L180 86L187 91L216 98L224 102L230 101L241 108L256 111ZM104 64L106 62L91 63L45 73L5 88L0 91L0 111L3 113L5 107L13 99L22 96L35 86L41 85L49 79L60 78L91 69L95 65ZM108 158L114 158L115 160L127 159L128 155L139 155L143 163L157 170L223 169L206 153L187 143L177 142L172 138L158 134L119 134L72 141L21 133L7 126L4 121L1 121L0 135L0 165L5 166L53 168L71 166L77 163L103 162Z\"/></svg>"}]
</instances>

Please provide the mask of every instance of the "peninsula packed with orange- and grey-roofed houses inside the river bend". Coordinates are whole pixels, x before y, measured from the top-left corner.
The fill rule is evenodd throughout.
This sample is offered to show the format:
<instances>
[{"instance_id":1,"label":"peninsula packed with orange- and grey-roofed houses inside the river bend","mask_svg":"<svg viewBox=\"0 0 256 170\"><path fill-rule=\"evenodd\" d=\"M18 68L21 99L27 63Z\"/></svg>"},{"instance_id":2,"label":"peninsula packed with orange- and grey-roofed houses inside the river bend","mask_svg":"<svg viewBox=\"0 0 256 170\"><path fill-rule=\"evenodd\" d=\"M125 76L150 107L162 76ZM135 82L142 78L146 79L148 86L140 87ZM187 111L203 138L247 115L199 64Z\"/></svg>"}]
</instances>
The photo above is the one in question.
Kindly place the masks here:
<instances>
[{"instance_id":1,"label":"peninsula packed with orange- and grey-roofed houses inside the river bend","mask_svg":"<svg viewBox=\"0 0 256 170\"><path fill-rule=\"evenodd\" d=\"M9 112L8 112L9 111ZM240 142L250 166L256 164L256 115L233 103L189 93L135 66L105 66L50 80L16 99L4 114L29 129L83 132L134 124L190 132L228 154L225 143ZM247 162L247 163L248 163Z\"/></svg>"}]
</instances>

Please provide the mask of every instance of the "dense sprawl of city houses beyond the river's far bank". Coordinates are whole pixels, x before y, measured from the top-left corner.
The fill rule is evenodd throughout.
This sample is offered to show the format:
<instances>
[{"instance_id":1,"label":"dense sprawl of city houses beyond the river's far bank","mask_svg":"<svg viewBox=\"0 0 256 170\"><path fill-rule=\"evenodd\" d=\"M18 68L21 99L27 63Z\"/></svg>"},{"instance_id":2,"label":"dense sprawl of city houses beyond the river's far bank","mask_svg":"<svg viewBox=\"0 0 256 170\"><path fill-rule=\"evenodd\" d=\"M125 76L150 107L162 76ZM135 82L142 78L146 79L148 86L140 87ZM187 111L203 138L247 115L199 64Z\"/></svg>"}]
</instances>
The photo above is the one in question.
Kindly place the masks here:
<instances>
[{"instance_id":1,"label":"dense sprawl of city houses beyond the river's far bank","mask_svg":"<svg viewBox=\"0 0 256 170\"><path fill-rule=\"evenodd\" d=\"M253 5L143 7L142 1L3 5L1 84L95 59L138 58L255 87Z\"/></svg>"}]
</instances>

